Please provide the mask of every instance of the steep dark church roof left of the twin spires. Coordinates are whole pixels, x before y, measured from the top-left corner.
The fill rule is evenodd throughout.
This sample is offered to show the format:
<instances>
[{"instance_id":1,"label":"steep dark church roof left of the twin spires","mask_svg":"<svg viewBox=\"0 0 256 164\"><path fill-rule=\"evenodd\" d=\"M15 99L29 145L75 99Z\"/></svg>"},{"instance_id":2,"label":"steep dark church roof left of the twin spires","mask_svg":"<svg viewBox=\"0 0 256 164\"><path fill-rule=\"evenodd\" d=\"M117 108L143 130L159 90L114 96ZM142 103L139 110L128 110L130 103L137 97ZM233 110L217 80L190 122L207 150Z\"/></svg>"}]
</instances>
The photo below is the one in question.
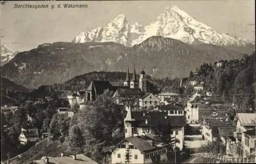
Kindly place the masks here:
<instances>
[{"instance_id":1,"label":"steep dark church roof left of the twin spires","mask_svg":"<svg viewBox=\"0 0 256 164\"><path fill-rule=\"evenodd\" d=\"M101 95L103 94L104 90L107 89L112 89L112 85L109 81L93 80L90 86L87 88L87 91L95 90L97 95Z\"/></svg>"}]
</instances>

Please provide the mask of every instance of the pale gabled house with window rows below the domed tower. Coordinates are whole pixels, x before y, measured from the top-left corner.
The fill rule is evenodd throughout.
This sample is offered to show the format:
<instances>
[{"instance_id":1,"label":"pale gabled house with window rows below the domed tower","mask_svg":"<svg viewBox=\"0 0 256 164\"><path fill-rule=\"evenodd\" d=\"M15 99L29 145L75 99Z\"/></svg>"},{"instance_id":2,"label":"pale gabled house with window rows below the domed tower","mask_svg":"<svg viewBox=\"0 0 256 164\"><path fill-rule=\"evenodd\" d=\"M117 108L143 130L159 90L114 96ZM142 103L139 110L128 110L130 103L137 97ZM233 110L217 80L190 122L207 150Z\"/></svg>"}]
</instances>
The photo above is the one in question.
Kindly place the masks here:
<instances>
[{"instance_id":1,"label":"pale gabled house with window rows below the domed tower","mask_svg":"<svg viewBox=\"0 0 256 164\"><path fill-rule=\"evenodd\" d=\"M155 107L160 105L160 99L153 93L148 93L139 99L139 105L142 108Z\"/></svg>"}]
</instances>

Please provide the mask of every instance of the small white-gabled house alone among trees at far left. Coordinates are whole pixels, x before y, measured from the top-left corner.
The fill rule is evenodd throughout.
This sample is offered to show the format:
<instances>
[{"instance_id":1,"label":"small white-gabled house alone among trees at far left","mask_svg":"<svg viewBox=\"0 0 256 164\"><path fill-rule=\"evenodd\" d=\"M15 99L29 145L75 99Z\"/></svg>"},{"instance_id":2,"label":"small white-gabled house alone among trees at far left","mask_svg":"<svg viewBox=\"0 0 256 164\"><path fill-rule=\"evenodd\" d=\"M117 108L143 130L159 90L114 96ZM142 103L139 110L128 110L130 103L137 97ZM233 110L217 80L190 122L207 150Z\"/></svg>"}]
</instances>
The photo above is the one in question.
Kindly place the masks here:
<instances>
[{"instance_id":1,"label":"small white-gabled house alone among trees at far left","mask_svg":"<svg viewBox=\"0 0 256 164\"><path fill-rule=\"evenodd\" d=\"M19 134L19 142L22 145L27 145L29 142L37 142L38 137L38 128L30 126L22 126L22 132Z\"/></svg>"}]
</instances>

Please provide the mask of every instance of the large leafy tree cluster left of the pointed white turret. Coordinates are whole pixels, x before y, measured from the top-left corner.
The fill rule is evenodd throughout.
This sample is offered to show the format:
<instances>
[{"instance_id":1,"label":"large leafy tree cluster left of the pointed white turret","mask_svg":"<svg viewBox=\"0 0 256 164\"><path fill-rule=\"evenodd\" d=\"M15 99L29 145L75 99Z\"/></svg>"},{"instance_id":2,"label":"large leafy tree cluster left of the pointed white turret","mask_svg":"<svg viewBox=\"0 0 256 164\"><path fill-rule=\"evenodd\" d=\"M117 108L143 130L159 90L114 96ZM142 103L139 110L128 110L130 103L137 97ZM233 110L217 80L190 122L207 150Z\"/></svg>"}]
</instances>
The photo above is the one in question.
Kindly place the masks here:
<instances>
[{"instance_id":1,"label":"large leafy tree cluster left of the pointed white turret","mask_svg":"<svg viewBox=\"0 0 256 164\"><path fill-rule=\"evenodd\" d=\"M122 106L112 102L109 91L79 111L69 126L69 146L77 153L83 152L97 161L102 159L102 149L110 147L124 138Z\"/></svg>"}]
</instances>

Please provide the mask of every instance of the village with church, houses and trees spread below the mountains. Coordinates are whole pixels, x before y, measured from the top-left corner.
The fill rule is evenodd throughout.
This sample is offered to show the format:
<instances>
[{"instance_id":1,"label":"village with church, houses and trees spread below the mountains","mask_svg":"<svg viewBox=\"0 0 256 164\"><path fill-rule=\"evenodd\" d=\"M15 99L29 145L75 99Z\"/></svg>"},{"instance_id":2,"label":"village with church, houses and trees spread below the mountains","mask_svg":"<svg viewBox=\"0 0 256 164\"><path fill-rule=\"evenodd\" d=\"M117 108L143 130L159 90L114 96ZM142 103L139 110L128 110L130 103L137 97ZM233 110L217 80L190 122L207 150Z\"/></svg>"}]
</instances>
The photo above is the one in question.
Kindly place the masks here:
<instances>
[{"instance_id":1,"label":"village with church, houses and trees spread below the mountains","mask_svg":"<svg viewBox=\"0 0 256 164\"><path fill-rule=\"evenodd\" d=\"M216 63L216 69L221 67L221 63ZM35 143L36 146L43 141L47 141L47 145L61 141L68 142L70 151L61 154L57 152L60 155L56 157L44 154L41 159L28 159L25 163L50 163L51 160L73 163L78 156L81 160L85 159L84 163L88 163L87 158L95 163L177 163L189 159L196 152L206 153L207 157L200 158L210 158L211 162L213 159L216 162L231 158L240 162L255 162L255 109L238 109L234 103L223 102L221 97L215 95L213 85L198 80L198 73L190 74L193 78L186 81L186 84L183 84L182 78L178 80L180 88L192 89L190 94L164 91L155 93L148 87L146 72L141 70L138 78L134 66L132 76L127 68L123 85L114 86L110 81L95 79L84 90L32 101L34 104L42 104L57 98L62 103L55 106L56 114L49 113L54 115L48 120L48 125L44 123L47 130L39 131L35 123L37 116L27 114L26 123L17 134L19 144L33 149ZM110 108L109 112L114 110L113 114L116 115L112 118L116 123L110 123L113 125L111 133L107 130L110 127L99 126L99 122L91 120L95 116L100 121L98 115L102 115L101 119L107 121L111 114L104 108ZM1 116L14 114L15 111L19 111L19 106L2 106ZM84 117L86 115L88 118ZM106 138L102 140L104 142L101 143L103 146L99 146L100 150L97 150L99 147L92 150L95 153L100 151L99 159L96 155L84 152L86 148L81 146L86 144L79 141L86 138L81 131L84 130L81 119L89 121L88 126L93 125L97 130L102 126L103 131L99 131L99 134L92 133ZM108 126L105 121L101 123ZM7 131L8 125L4 125L4 128ZM113 138L113 142L105 143L109 137ZM212 147L209 150L207 146ZM216 152L212 154L211 151L215 149ZM24 163L22 156L18 155L4 163Z\"/></svg>"}]
</instances>

